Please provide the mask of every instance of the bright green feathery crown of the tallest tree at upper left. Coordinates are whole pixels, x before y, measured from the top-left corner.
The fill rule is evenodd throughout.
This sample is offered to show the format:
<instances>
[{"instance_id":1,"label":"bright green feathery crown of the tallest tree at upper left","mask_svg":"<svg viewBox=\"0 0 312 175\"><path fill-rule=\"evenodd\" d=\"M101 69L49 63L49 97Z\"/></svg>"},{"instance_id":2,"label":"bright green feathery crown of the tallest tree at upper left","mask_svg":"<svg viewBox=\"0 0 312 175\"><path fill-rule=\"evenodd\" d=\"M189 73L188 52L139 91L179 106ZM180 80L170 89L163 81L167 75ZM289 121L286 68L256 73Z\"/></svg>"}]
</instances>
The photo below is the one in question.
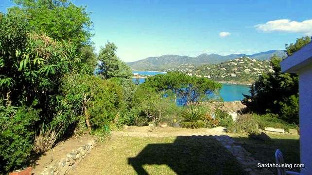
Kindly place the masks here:
<instances>
[{"instance_id":1,"label":"bright green feathery crown of the tallest tree at upper left","mask_svg":"<svg viewBox=\"0 0 312 175\"><path fill-rule=\"evenodd\" d=\"M28 17L35 32L46 33L54 40L89 45L92 22L86 7L69 0L14 0ZM17 7L12 10L18 11Z\"/></svg>"}]
</instances>

